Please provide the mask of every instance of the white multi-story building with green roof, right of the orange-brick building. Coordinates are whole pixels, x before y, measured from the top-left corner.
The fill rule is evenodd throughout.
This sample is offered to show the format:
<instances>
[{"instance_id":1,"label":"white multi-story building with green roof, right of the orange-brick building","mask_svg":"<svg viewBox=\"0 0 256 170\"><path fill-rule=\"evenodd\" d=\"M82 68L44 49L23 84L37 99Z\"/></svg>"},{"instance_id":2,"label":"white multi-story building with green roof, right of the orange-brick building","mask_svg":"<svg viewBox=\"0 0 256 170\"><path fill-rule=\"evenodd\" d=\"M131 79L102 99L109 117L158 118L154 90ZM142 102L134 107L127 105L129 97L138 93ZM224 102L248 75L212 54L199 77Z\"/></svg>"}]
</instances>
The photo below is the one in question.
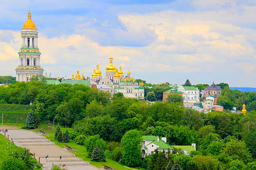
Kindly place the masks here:
<instances>
[{"instance_id":1,"label":"white multi-story building with green roof, right of the orange-brick building","mask_svg":"<svg viewBox=\"0 0 256 170\"><path fill-rule=\"evenodd\" d=\"M200 103L200 92L197 87L179 86L177 90L182 92L184 105L192 106L193 103Z\"/></svg>"}]
</instances>

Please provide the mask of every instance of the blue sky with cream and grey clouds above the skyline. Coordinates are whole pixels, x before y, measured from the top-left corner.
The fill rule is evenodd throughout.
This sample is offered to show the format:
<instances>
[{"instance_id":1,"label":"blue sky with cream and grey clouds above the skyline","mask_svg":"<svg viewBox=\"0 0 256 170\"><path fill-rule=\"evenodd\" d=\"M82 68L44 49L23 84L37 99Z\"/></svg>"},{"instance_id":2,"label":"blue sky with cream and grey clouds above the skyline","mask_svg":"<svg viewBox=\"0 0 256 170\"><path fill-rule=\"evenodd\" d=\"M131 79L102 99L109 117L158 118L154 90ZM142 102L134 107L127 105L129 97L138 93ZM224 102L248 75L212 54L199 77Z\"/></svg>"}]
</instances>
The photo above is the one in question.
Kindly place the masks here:
<instances>
[{"instance_id":1,"label":"blue sky with cream and grey clouds above the skyline","mask_svg":"<svg viewBox=\"0 0 256 170\"><path fill-rule=\"evenodd\" d=\"M28 8L52 77L97 62L151 83L256 87L256 0L1 0L0 75L15 75Z\"/></svg>"}]
</instances>

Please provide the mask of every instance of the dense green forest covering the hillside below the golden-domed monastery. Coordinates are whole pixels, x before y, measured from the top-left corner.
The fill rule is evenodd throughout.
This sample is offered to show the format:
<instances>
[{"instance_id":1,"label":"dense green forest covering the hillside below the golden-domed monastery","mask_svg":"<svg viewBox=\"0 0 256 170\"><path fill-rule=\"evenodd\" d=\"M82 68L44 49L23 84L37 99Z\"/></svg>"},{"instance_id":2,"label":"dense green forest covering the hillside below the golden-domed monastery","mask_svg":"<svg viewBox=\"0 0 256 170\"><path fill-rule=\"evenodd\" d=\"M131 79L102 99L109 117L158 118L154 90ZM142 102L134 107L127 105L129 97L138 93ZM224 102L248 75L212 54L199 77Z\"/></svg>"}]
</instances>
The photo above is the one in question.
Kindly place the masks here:
<instances>
[{"instance_id":1,"label":"dense green forest covering the hillside below the golden-domed monastery","mask_svg":"<svg viewBox=\"0 0 256 170\"><path fill-rule=\"evenodd\" d=\"M223 91L223 96L231 102L241 95L248 103L256 98L255 93L236 93L236 90L233 93L227 87ZM84 85L46 85L40 81L0 87L0 102L33 103L36 126L55 117L59 125L74 128L76 132L70 134L71 140L85 145L89 153L101 146L106 157L123 165L148 170L179 167L183 170L251 170L250 167L256 166L252 163L256 158L256 111L253 109L246 117L229 111L204 114L179 102L151 103L125 98L122 93L111 97L109 93ZM142 135L166 136L172 145L196 143L197 151L167 157L156 151L140 160L136 152L140 144L129 148L127 138L141 141ZM129 155L127 150L131 149L137 156ZM129 163L129 158L134 159L134 164Z\"/></svg>"}]
</instances>

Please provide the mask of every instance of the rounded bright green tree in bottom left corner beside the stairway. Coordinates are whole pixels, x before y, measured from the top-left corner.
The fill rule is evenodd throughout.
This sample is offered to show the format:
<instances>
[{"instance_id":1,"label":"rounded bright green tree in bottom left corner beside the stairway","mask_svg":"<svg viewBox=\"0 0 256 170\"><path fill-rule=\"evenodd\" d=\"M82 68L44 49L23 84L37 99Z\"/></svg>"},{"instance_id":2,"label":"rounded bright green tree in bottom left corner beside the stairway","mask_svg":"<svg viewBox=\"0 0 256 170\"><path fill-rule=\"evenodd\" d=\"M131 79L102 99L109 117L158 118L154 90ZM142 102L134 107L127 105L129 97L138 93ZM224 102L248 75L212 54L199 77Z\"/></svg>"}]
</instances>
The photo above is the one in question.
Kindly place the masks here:
<instances>
[{"instance_id":1,"label":"rounded bright green tree in bottom left corner beside the stairway","mask_svg":"<svg viewBox=\"0 0 256 170\"><path fill-rule=\"evenodd\" d=\"M20 159L7 158L0 164L0 170L24 170L24 163Z\"/></svg>"}]
</instances>

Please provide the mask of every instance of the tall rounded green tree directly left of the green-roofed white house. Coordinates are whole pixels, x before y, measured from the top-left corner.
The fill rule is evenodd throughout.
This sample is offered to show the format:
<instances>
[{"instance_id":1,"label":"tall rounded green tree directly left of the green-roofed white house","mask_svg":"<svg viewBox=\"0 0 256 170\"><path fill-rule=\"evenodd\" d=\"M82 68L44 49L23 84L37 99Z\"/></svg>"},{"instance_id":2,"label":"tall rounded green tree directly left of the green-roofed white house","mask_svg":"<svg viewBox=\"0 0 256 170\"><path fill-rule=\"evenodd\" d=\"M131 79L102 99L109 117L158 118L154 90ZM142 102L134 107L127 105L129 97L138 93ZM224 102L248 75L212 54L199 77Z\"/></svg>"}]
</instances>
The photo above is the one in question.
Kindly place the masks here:
<instances>
[{"instance_id":1,"label":"tall rounded green tree directly left of the green-roofed white house","mask_svg":"<svg viewBox=\"0 0 256 170\"><path fill-rule=\"evenodd\" d=\"M130 130L123 135L123 164L128 167L139 165L141 159L141 134L138 130Z\"/></svg>"}]
</instances>

